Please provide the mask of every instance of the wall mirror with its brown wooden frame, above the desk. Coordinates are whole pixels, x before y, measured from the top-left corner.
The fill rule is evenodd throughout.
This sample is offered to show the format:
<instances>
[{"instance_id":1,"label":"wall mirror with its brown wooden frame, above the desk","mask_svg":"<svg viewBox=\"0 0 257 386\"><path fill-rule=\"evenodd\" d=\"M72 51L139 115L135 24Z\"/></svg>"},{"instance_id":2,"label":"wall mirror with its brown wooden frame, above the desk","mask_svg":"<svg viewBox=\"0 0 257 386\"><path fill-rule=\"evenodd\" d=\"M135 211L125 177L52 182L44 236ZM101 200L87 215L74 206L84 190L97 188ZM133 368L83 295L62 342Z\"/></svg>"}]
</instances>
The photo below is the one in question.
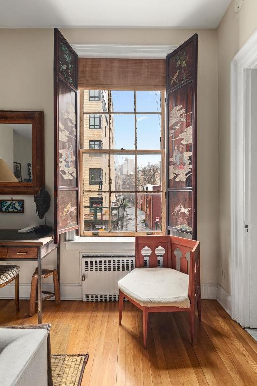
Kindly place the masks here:
<instances>
[{"instance_id":1,"label":"wall mirror with its brown wooden frame, above the desk","mask_svg":"<svg viewBox=\"0 0 257 386\"><path fill-rule=\"evenodd\" d=\"M0 193L35 194L44 186L44 113L0 111Z\"/></svg>"}]
</instances>

